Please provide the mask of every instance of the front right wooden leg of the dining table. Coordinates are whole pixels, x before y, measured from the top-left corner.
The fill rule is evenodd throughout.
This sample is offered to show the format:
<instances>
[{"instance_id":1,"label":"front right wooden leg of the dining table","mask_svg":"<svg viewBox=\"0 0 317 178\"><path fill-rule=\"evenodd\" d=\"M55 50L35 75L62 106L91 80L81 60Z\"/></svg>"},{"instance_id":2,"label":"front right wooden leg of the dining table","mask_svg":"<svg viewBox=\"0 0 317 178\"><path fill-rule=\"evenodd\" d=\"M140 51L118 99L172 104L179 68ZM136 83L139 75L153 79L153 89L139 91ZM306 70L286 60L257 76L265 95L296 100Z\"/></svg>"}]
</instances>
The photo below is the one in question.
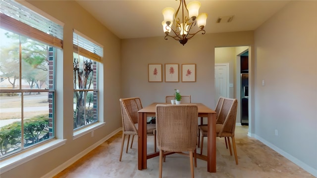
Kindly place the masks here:
<instances>
[{"instance_id":1,"label":"front right wooden leg of the dining table","mask_svg":"<svg viewBox=\"0 0 317 178\"><path fill-rule=\"evenodd\" d=\"M216 114L208 113L207 171L216 172Z\"/></svg>"}]
</instances>

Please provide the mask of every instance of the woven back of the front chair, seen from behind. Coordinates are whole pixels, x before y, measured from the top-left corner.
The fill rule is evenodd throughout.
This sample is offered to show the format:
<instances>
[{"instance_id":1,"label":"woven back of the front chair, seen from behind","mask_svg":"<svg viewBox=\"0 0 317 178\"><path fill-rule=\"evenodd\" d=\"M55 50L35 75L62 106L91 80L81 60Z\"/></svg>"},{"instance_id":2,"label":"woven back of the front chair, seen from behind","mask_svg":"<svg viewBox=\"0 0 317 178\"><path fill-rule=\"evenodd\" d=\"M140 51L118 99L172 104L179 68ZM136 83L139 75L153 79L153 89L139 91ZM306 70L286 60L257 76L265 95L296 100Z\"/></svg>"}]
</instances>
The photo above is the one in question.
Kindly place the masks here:
<instances>
[{"instance_id":1,"label":"woven back of the front chair, seen from behind","mask_svg":"<svg viewBox=\"0 0 317 178\"><path fill-rule=\"evenodd\" d=\"M156 106L157 146L164 151L194 151L198 132L196 104Z\"/></svg>"}]
</instances>

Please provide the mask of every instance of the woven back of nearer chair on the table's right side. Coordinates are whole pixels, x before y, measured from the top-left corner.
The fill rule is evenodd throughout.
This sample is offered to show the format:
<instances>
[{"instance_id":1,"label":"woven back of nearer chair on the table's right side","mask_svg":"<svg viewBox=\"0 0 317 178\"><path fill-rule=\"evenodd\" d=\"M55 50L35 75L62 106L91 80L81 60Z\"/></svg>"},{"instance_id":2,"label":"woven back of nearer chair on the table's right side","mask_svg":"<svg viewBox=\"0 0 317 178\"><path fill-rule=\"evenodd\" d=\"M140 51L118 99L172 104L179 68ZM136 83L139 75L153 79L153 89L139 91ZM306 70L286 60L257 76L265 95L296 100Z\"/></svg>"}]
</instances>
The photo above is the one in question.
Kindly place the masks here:
<instances>
[{"instance_id":1,"label":"woven back of nearer chair on the table's right side","mask_svg":"<svg viewBox=\"0 0 317 178\"><path fill-rule=\"evenodd\" d=\"M223 104L219 112L219 118L224 117L222 128L219 132L219 136L223 133L230 133L234 136L234 130L236 126L238 100L231 98L224 98Z\"/></svg>"}]
</instances>

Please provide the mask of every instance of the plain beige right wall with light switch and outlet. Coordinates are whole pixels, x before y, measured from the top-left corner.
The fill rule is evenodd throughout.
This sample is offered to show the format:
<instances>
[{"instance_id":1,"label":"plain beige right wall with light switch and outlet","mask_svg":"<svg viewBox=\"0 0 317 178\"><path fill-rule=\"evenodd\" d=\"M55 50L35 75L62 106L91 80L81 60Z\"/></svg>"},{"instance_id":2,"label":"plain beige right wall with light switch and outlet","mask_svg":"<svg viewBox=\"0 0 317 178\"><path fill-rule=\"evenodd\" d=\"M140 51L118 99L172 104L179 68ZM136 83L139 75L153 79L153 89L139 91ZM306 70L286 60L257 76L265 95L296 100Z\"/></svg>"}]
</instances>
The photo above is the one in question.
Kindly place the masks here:
<instances>
[{"instance_id":1,"label":"plain beige right wall with light switch and outlet","mask_svg":"<svg viewBox=\"0 0 317 178\"><path fill-rule=\"evenodd\" d=\"M291 1L265 22L255 53L254 134L317 176L317 1Z\"/></svg>"}]
</instances>

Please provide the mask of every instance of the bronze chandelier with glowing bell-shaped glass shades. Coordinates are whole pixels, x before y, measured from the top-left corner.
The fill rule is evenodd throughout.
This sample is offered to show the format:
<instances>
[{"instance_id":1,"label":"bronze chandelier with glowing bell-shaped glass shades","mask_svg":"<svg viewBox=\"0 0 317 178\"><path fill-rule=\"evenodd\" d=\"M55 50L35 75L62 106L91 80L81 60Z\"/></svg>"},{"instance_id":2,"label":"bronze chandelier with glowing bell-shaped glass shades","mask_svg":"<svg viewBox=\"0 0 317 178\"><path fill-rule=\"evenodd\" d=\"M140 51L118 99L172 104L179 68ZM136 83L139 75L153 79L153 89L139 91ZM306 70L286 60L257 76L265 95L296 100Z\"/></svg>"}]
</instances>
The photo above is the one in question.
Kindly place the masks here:
<instances>
[{"instance_id":1,"label":"bronze chandelier with glowing bell-shaped glass shades","mask_svg":"<svg viewBox=\"0 0 317 178\"><path fill-rule=\"evenodd\" d=\"M180 0L178 9L174 15L174 8L166 7L162 10L164 20L162 22L164 39L171 37L178 40L180 44L185 45L187 41L193 38L197 33L205 34L204 27L206 26L207 13L199 13L201 3L199 1L191 1L186 5L185 0ZM181 11L180 11L181 10ZM180 13L178 15L178 13ZM198 26L197 32L194 27ZM191 31L192 30L192 31ZM170 32L172 31L172 34Z\"/></svg>"}]
</instances>

